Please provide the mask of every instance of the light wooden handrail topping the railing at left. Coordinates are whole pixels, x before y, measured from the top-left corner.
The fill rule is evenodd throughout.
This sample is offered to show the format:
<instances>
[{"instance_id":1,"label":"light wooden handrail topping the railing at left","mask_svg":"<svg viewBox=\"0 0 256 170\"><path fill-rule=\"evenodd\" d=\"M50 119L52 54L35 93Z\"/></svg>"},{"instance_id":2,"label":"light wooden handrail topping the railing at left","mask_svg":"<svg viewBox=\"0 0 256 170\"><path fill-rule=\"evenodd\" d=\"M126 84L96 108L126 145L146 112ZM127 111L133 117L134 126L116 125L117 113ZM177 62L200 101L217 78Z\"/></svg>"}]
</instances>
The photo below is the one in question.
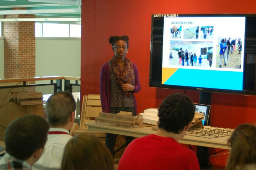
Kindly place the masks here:
<instances>
[{"instance_id":1,"label":"light wooden handrail topping the railing at left","mask_svg":"<svg viewBox=\"0 0 256 170\"><path fill-rule=\"evenodd\" d=\"M0 80L0 83L12 83L22 81L41 81L41 80L77 80L80 81L80 77L68 77L68 76L53 76L53 77L35 77L35 78L8 78Z\"/></svg>"}]
</instances>

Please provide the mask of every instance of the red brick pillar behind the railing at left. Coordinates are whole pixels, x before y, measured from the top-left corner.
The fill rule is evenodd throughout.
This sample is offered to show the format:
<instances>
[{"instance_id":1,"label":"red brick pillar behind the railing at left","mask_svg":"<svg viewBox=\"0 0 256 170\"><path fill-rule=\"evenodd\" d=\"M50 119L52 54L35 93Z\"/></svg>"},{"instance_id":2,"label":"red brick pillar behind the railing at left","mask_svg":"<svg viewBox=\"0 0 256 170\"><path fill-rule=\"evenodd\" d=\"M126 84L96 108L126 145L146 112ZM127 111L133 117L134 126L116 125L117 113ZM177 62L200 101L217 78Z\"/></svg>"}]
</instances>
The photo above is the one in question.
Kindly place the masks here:
<instances>
[{"instance_id":1,"label":"red brick pillar behind the railing at left","mask_svg":"<svg viewBox=\"0 0 256 170\"><path fill-rule=\"evenodd\" d=\"M4 15L4 18L35 18L35 15ZM4 78L35 77L35 22L4 22L3 36Z\"/></svg>"}]
</instances>

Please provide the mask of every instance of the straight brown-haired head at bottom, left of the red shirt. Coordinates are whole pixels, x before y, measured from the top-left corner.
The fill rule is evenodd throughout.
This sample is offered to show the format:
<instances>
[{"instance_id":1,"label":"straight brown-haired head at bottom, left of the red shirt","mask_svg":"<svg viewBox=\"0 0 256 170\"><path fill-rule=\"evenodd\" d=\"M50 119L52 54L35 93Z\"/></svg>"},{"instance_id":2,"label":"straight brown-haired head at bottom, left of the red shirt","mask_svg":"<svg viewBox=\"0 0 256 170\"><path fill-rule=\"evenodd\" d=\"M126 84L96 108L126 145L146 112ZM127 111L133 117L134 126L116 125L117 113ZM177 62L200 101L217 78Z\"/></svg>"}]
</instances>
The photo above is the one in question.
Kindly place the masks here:
<instances>
[{"instance_id":1,"label":"straight brown-haired head at bottom, left of the red shirt","mask_svg":"<svg viewBox=\"0 0 256 170\"><path fill-rule=\"evenodd\" d=\"M109 149L91 133L79 133L65 147L60 170L113 170Z\"/></svg>"}]
</instances>

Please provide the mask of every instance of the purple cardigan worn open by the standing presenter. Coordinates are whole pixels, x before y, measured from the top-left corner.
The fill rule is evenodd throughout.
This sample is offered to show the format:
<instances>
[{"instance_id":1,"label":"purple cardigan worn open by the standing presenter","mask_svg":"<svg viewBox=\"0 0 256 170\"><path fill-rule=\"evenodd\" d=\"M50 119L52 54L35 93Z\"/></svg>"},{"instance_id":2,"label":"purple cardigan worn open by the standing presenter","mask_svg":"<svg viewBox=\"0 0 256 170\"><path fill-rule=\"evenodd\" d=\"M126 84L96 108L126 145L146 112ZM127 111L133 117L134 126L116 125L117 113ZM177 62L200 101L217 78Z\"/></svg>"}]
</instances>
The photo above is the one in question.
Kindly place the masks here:
<instances>
[{"instance_id":1,"label":"purple cardigan worn open by the standing presenter","mask_svg":"<svg viewBox=\"0 0 256 170\"><path fill-rule=\"evenodd\" d=\"M138 75L138 68L136 64L132 63L132 65L135 73L135 90L133 93L137 93L141 90L141 84ZM133 100L135 111L137 114L137 102L134 95ZM100 101L102 111L110 113L110 68L108 62L102 65L100 71Z\"/></svg>"}]
</instances>

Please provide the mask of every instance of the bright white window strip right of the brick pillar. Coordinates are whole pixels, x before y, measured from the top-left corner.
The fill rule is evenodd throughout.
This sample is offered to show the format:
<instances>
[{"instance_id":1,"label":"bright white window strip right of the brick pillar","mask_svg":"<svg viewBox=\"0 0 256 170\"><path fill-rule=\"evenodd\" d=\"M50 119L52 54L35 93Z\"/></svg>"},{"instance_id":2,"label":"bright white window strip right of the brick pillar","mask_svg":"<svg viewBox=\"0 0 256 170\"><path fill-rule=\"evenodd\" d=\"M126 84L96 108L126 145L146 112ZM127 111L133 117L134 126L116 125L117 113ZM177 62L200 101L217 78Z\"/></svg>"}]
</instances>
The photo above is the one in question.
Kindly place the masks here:
<instances>
[{"instance_id":1,"label":"bright white window strip right of the brick pillar","mask_svg":"<svg viewBox=\"0 0 256 170\"><path fill-rule=\"evenodd\" d=\"M81 24L35 23L35 37L81 37Z\"/></svg>"}]
</instances>

